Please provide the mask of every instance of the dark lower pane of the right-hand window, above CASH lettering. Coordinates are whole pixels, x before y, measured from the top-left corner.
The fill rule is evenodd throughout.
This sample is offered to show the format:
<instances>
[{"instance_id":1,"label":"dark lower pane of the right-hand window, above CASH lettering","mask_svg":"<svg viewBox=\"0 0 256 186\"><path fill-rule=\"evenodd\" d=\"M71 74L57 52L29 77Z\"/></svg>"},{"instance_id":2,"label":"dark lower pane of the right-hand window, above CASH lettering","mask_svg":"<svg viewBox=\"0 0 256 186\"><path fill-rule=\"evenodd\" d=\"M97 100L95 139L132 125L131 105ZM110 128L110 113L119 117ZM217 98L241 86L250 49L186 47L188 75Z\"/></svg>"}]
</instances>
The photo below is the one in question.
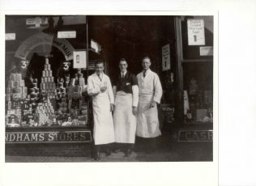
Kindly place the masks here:
<instances>
[{"instance_id":1,"label":"dark lower pane of the right-hand window, above CASH lettering","mask_svg":"<svg viewBox=\"0 0 256 186\"><path fill-rule=\"evenodd\" d=\"M213 122L213 83L211 64L187 64L184 67L184 121L193 124Z\"/></svg>"}]
</instances>

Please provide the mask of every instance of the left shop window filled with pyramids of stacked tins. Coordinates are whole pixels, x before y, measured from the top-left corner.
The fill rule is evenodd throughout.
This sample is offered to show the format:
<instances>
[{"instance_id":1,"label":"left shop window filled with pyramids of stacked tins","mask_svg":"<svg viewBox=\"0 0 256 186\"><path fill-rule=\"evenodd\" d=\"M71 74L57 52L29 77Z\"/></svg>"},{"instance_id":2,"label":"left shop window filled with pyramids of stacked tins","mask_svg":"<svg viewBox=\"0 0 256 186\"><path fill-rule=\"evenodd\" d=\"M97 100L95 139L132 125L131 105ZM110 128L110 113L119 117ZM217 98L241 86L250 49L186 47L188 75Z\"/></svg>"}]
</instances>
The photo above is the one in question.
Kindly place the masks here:
<instances>
[{"instance_id":1,"label":"left shop window filled with pyramids of stacked tins","mask_svg":"<svg viewBox=\"0 0 256 186\"><path fill-rule=\"evenodd\" d=\"M88 127L87 70L72 65L85 27L85 16L6 15L6 128Z\"/></svg>"}]
</instances>

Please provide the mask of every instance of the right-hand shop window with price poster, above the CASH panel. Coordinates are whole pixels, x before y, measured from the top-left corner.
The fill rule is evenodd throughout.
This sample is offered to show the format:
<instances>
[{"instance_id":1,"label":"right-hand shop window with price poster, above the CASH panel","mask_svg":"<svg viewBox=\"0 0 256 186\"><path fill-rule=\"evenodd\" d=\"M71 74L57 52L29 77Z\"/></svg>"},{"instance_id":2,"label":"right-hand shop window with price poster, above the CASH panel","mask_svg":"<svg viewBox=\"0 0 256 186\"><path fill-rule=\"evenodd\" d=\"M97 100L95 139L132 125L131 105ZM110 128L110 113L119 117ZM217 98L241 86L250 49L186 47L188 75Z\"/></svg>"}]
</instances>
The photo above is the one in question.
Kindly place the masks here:
<instances>
[{"instance_id":1,"label":"right-hand shop window with price poster, above the CASH panel","mask_svg":"<svg viewBox=\"0 0 256 186\"><path fill-rule=\"evenodd\" d=\"M181 17L184 122L213 122L213 16Z\"/></svg>"}]
</instances>

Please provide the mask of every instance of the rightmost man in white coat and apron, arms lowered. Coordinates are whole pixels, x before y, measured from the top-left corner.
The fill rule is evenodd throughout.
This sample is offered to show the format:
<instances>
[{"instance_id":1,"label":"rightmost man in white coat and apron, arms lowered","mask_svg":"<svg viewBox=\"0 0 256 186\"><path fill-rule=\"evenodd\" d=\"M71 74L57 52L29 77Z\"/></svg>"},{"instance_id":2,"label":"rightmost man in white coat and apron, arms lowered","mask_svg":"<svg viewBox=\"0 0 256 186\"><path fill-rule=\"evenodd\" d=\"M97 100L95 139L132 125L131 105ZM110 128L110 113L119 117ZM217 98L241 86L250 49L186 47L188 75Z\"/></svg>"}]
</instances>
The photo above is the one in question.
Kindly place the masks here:
<instances>
[{"instance_id":1,"label":"rightmost man in white coat and apron, arms lowered","mask_svg":"<svg viewBox=\"0 0 256 186\"><path fill-rule=\"evenodd\" d=\"M151 61L144 57L143 71L137 75L139 82L139 105L136 135L151 140L151 148L156 148L156 137L161 135L159 129L157 105L162 97L162 86L159 76L150 70Z\"/></svg>"}]
</instances>

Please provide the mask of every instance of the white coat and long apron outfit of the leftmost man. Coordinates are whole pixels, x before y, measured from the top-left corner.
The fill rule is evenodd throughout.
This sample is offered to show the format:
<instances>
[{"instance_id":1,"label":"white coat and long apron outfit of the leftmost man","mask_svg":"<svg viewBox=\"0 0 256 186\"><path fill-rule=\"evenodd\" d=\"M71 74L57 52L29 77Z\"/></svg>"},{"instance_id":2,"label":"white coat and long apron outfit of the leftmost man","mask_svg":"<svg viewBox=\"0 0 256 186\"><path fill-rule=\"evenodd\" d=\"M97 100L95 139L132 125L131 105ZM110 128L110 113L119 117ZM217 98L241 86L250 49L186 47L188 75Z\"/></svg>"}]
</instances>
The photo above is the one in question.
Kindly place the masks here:
<instances>
[{"instance_id":1,"label":"white coat and long apron outfit of the leftmost man","mask_svg":"<svg viewBox=\"0 0 256 186\"><path fill-rule=\"evenodd\" d=\"M96 74L92 74L87 81L88 94L92 94L92 108L94 130L93 137L95 145L114 142L113 116L110 112L110 103L113 103L113 90L109 77L103 75L102 82ZM108 89L101 93L100 86L107 84ZM93 95L93 93L98 93Z\"/></svg>"}]
</instances>

